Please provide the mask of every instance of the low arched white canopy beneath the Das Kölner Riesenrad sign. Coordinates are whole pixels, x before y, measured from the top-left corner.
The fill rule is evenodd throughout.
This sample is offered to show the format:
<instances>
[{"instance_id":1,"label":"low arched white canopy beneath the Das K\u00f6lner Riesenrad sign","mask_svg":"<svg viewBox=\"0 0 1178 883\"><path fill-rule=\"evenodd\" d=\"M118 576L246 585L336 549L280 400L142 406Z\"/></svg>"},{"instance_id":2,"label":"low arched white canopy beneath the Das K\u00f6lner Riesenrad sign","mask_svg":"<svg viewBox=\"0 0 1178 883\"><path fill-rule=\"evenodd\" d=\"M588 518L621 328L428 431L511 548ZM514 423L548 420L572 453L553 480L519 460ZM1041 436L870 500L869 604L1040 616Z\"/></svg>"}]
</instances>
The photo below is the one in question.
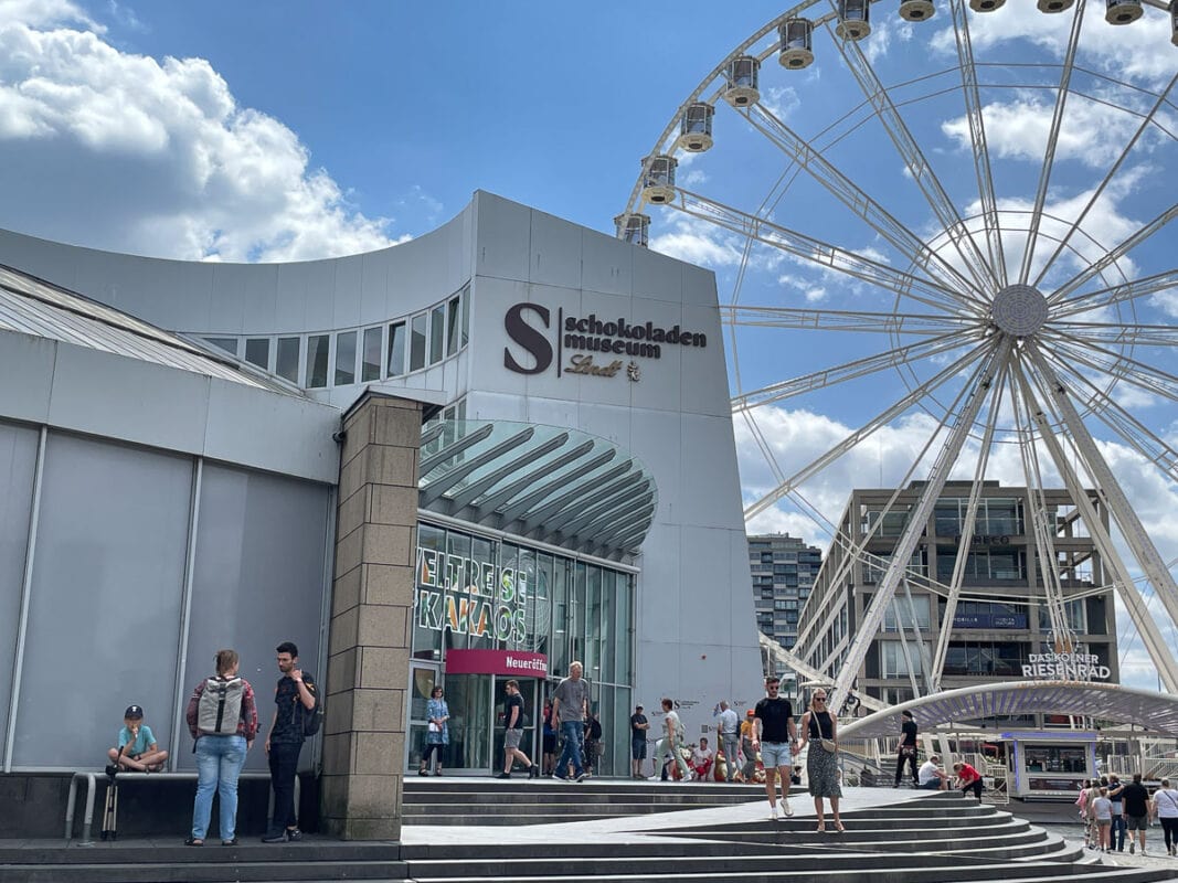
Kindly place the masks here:
<instances>
[{"instance_id":1,"label":"low arched white canopy beneath the Das K\u00f6lner Riesenrad sign","mask_svg":"<svg viewBox=\"0 0 1178 883\"><path fill-rule=\"evenodd\" d=\"M1178 697L1118 684L1012 680L945 690L893 705L840 726L839 738L898 736L900 712L905 710L912 711L922 730L995 716L1041 713L1131 723L1154 733L1178 737Z\"/></svg>"}]
</instances>

